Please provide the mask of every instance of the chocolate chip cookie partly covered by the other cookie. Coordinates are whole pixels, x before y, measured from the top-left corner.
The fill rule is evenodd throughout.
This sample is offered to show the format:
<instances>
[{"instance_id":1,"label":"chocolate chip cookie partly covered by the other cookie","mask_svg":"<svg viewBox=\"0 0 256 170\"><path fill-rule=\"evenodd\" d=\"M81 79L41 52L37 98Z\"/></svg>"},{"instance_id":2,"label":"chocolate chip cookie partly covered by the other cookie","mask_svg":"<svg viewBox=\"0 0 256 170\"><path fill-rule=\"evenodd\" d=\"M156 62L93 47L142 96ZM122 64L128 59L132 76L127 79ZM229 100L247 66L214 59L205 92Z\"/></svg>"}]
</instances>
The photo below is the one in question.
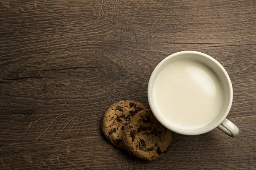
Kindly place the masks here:
<instances>
[{"instance_id":1,"label":"chocolate chip cookie partly covered by the other cookie","mask_svg":"<svg viewBox=\"0 0 256 170\"><path fill-rule=\"evenodd\" d=\"M145 106L131 100L120 101L111 105L102 120L102 132L115 146L125 149L122 142L122 132L131 117L139 111L146 109Z\"/></svg>"}]
</instances>

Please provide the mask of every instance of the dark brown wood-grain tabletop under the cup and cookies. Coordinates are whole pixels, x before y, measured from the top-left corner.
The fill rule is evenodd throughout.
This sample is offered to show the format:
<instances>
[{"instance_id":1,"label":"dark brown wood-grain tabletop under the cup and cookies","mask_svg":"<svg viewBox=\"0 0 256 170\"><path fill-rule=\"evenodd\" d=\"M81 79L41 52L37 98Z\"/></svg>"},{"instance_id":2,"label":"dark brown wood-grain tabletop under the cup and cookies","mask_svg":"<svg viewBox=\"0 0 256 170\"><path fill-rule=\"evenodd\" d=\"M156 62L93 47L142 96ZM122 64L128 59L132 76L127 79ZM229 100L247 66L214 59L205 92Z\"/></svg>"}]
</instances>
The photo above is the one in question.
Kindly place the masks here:
<instances>
[{"instance_id":1,"label":"dark brown wood-grain tabletop under the cup and cookies","mask_svg":"<svg viewBox=\"0 0 256 170\"><path fill-rule=\"evenodd\" d=\"M227 70L239 136L175 133L152 162L112 146L106 109L148 107L154 67L184 50ZM256 1L0 0L0 169L255 170Z\"/></svg>"}]
</instances>

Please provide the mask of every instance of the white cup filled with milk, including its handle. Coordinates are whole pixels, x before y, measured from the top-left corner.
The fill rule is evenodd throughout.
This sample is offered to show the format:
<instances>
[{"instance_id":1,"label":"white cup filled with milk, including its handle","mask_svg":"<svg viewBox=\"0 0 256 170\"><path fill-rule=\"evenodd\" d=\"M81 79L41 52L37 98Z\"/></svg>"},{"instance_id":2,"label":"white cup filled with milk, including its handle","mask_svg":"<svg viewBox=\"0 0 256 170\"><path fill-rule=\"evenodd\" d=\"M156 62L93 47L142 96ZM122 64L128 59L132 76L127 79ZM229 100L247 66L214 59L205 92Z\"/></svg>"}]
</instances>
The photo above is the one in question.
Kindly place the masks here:
<instances>
[{"instance_id":1,"label":"white cup filled with milk, including its handle","mask_svg":"<svg viewBox=\"0 0 256 170\"><path fill-rule=\"evenodd\" d=\"M230 77L214 58L181 51L163 59L148 82L149 106L158 121L183 135L218 127L229 136L238 127L226 119L233 101Z\"/></svg>"}]
</instances>

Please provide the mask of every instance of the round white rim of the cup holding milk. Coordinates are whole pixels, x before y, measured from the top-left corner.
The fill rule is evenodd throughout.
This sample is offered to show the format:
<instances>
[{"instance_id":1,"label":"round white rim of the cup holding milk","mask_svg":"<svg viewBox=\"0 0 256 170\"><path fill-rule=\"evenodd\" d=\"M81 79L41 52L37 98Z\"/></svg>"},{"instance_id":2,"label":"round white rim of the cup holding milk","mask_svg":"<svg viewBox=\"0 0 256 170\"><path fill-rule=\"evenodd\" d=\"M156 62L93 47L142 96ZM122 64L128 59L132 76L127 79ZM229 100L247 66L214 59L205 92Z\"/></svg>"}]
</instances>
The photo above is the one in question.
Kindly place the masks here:
<instances>
[{"instance_id":1,"label":"round white rim of the cup holding milk","mask_svg":"<svg viewBox=\"0 0 256 170\"><path fill-rule=\"evenodd\" d=\"M154 105L153 105L153 98L152 98L152 85L153 85L153 77L155 76L156 72L158 71L158 69L161 68L161 66L163 65L163 63L165 63L166 61L168 61L169 59L171 59L172 57L175 57L177 55L181 55L181 54L198 54L198 55L201 55L203 57L206 57L208 59L210 59L212 62L214 62L219 68L221 68L221 71L223 72L223 74L225 75L226 79L227 79L227 82L228 82L228 85L229 85L229 90L230 90L230 96L229 96L229 103L228 103L228 107L225 111L225 113L222 115L221 119L218 120L218 122L215 123L215 125L207 128L207 129L204 129L204 130L201 130L201 131L191 131L191 132L187 132L187 131L181 131L181 130L177 130L173 127L171 127L170 125L168 125L166 122L162 121L162 119L160 118L160 113L155 109ZM217 74L217 73L216 73ZM155 68L154 68L154 71L152 72L151 76L150 76L150 79L149 79L149 82L148 82L148 103L149 103L149 107L151 108L151 111L153 112L154 116L157 118L157 120L163 125L165 126L166 128L168 128L169 130L172 130L176 133L180 133L180 134L183 134L183 135L200 135L200 134L203 134L203 133L207 133L213 129L215 129L216 127L218 127L218 125L221 124L221 122L223 122L223 120L227 117L229 111L230 111L230 108L231 108L231 105L232 105L232 102L233 102L233 87L232 87L232 83L231 83L231 80L230 80L230 77L229 75L227 74L227 71L224 69L224 67L214 58L210 57L209 55L207 54L204 54L204 53L201 53L201 52L198 52L198 51L180 51L180 52L176 52L174 54L171 54L169 55L168 57L164 58Z\"/></svg>"}]
</instances>

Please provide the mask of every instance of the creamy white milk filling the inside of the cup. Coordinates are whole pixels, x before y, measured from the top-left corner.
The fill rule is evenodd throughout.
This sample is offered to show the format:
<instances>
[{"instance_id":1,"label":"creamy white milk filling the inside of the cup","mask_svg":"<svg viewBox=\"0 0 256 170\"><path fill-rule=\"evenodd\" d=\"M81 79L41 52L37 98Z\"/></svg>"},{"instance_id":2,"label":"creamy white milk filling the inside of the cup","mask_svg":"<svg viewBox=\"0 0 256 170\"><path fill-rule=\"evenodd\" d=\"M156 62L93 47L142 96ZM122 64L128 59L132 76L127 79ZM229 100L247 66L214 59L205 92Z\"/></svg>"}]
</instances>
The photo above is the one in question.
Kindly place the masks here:
<instances>
[{"instance_id":1,"label":"creamy white milk filling the inside of the cup","mask_svg":"<svg viewBox=\"0 0 256 170\"><path fill-rule=\"evenodd\" d=\"M201 62L180 59L157 75L153 89L157 110L181 129L208 125L220 113L224 93L212 69Z\"/></svg>"}]
</instances>

